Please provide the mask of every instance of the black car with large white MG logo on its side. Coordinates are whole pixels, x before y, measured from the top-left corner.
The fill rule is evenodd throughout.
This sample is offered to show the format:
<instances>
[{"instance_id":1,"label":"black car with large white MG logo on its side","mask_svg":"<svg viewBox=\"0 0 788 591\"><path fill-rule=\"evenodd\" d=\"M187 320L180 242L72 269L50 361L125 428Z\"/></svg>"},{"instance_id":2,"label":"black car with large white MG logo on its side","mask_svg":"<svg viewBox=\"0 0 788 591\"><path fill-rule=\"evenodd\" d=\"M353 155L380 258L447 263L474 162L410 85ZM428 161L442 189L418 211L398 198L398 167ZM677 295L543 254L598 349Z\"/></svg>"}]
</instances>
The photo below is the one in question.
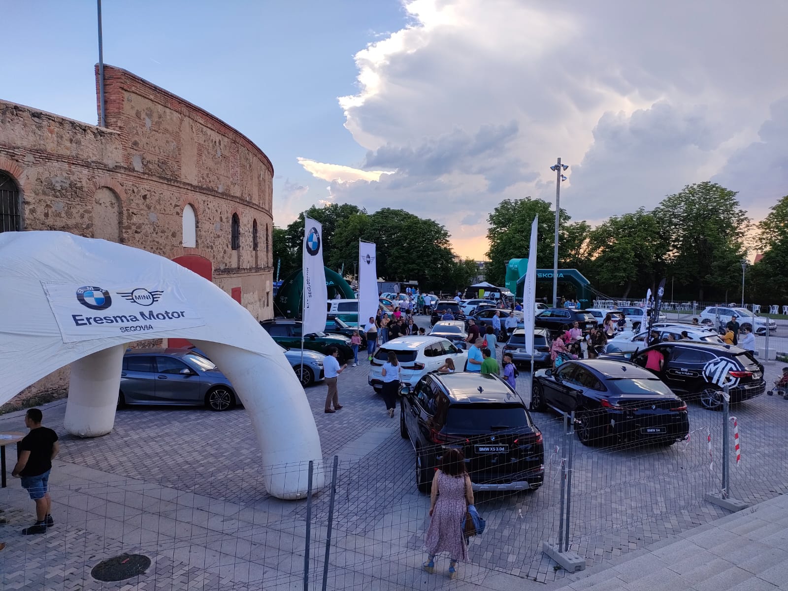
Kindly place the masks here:
<instances>
[{"instance_id":1,"label":"black car with large white MG logo on its side","mask_svg":"<svg viewBox=\"0 0 788 591\"><path fill-rule=\"evenodd\" d=\"M599 359L630 359L645 366L646 355L656 349L665 362L660 378L683 399L698 398L704 408L723 406L723 386L730 387L730 402L749 400L766 392L764 366L749 351L728 344L695 341L665 342L634 353L609 353Z\"/></svg>"}]
</instances>

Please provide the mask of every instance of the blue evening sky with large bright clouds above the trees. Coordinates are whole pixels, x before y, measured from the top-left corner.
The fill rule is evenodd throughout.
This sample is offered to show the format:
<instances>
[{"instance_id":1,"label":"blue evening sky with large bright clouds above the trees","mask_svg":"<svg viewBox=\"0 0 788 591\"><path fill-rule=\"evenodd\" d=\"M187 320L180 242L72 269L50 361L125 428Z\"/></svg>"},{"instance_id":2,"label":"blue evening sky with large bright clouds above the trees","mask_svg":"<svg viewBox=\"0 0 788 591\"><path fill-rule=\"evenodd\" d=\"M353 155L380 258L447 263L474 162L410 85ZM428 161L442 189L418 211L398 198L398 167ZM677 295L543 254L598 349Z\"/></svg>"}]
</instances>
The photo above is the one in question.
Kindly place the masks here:
<instances>
[{"instance_id":1,"label":"blue evening sky with large bright clouds above the trees","mask_svg":"<svg viewBox=\"0 0 788 591\"><path fill-rule=\"evenodd\" d=\"M313 203L401 207L484 258L489 210L552 200L558 156L574 220L709 179L755 218L788 194L783 0L104 4L108 63L269 154L277 225ZM94 122L94 9L11 5L24 43L2 98Z\"/></svg>"}]
</instances>

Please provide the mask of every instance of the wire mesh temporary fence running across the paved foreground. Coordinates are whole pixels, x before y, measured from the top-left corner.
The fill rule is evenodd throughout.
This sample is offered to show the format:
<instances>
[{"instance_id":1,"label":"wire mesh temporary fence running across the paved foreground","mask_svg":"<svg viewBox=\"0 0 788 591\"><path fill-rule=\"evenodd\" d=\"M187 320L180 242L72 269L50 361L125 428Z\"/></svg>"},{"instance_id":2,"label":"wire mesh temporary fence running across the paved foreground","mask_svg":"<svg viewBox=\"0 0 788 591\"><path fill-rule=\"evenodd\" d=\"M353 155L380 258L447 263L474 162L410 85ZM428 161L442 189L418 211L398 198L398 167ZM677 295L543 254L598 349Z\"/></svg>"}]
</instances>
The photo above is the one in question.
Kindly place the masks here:
<instances>
[{"instance_id":1,"label":"wire mesh temporary fence running across the paved foreground","mask_svg":"<svg viewBox=\"0 0 788 591\"><path fill-rule=\"evenodd\" d=\"M767 367L768 386L781 368ZM526 376L519 381L521 392L530 391ZM447 554L438 556L435 574L422 568L429 495L417 489L410 440L394 432L355 459L338 459L333 507L333 457L314 465L315 481L325 485L311 503L269 496L266 474L249 467L108 481L69 477L67 485L50 486L54 527L22 537L17 532L32 523L32 501L11 481L0 489L8 521L0 535L14 534L0 537L9 542L0 552L0 587L207 591L304 589L306 582L322 589L325 576L326 589L440 589L484 585L491 573L548 582L564 573L543 544L567 532L570 550L590 565L727 515L708 500L723 490L723 446L730 453L728 496L754 504L788 492L788 400L758 396L732 405L730 416L690 401L688 413L689 438L673 444L601 433L583 444L580 423L565 429L559 414L531 413L543 439L544 482L535 491L474 493L486 529L470 538L455 581L445 576ZM562 531L564 469L571 490ZM273 470L303 478L309 466ZM102 560L138 553L152 561L144 574L121 582L91 576Z\"/></svg>"}]
</instances>

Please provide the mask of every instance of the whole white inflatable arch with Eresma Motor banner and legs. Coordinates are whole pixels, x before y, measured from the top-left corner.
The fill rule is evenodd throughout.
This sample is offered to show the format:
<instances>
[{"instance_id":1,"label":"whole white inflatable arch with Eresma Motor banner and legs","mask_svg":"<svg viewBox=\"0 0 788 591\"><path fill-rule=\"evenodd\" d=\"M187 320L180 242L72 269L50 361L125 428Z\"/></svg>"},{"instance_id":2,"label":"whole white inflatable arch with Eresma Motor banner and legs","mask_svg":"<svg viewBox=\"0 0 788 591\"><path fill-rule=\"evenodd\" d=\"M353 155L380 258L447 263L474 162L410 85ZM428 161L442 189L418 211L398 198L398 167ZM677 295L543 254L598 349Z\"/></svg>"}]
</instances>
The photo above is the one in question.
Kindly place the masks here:
<instances>
[{"instance_id":1,"label":"whole white inflatable arch with Eresma Motor banner and legs","mask_svg":"<svg viewBox=\"0 0 788 591\"><path fill-rule=\"evenodd\" d=\"M67 232L0 233L0 404L72 364L65 429L110 433L126 345L191 340L229 377L262 449L266 489L281 499L324 484L307 396L284 353L216 285L139 248Z\"/></svg>"}]
</instances>

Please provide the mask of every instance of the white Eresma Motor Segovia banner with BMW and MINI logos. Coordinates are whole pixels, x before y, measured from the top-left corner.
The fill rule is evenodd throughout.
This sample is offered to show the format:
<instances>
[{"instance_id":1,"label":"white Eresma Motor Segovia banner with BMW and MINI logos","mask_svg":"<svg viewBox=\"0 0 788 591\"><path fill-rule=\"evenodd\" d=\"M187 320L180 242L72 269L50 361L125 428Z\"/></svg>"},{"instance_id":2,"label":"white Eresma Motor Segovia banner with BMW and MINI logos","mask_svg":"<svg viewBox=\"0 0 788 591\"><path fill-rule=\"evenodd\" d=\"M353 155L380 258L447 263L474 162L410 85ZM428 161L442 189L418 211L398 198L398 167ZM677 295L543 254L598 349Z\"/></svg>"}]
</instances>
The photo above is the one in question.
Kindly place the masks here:
<instances>
[{"instance_id":1,"label":"white Eresma Motor Segovia banner with BMW and MINI logos","mask_svg":"<svg viewBox=\"0 0 788 591\"><path fill-rule=\"evenodd\" d=\"M205 321L177 283L80 285L41 283L64 343L191 329Z\"/></svg>"}]
</instances>

